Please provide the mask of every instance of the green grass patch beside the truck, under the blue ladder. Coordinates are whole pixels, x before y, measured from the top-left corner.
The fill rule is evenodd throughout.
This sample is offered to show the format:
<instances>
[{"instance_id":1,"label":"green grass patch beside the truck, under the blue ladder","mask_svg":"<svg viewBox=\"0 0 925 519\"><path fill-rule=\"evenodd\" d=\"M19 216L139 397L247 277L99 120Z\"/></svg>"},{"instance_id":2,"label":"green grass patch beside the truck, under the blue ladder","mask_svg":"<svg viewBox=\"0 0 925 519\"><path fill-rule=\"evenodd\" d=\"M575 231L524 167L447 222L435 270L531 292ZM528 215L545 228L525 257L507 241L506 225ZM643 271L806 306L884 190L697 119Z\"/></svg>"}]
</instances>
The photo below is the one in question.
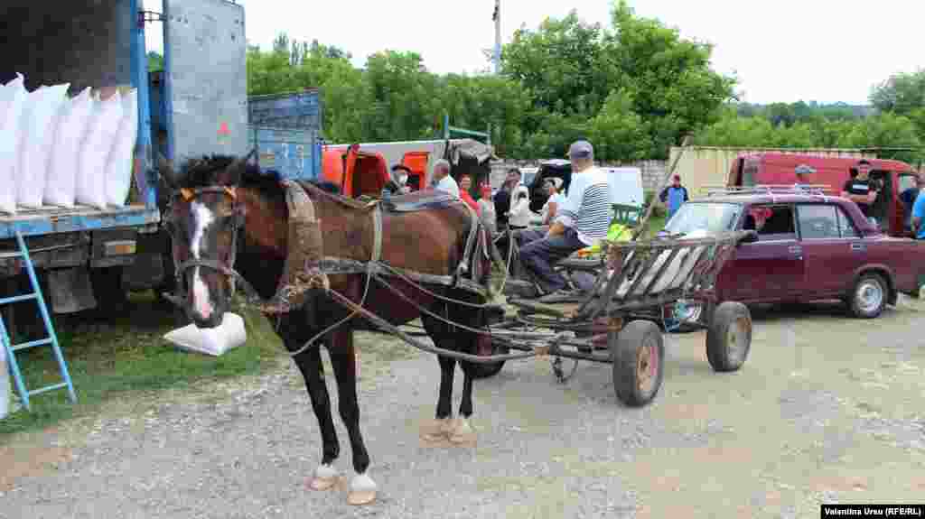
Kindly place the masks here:
<instances>
[{"instance_id":1,"label":"green grass patch beside the truck, under the blue ladder","mask_svg":"<svg viewBox=\"0 0 925 519\"><path fill-rule=\"evenodd\" d=\"M217 358L186 353L167 343L162 335L185 321L178 318L176 309L157 306L149 294L129 296L128 305L117 316L56 316L58 344L68 363L77 404L70 403L64 389L35 395L30 399L31 411L20 409L0 421L0 436L86 416L107 401L133 394L183 389L277 366L283 348L267 321L249 310L238 311L247 329L247 343ZM18 352L16 358L28 389L62 381L51 347ZM13 393L13 401L18 402L15 385Z\"/></svg>"}]
</instances>

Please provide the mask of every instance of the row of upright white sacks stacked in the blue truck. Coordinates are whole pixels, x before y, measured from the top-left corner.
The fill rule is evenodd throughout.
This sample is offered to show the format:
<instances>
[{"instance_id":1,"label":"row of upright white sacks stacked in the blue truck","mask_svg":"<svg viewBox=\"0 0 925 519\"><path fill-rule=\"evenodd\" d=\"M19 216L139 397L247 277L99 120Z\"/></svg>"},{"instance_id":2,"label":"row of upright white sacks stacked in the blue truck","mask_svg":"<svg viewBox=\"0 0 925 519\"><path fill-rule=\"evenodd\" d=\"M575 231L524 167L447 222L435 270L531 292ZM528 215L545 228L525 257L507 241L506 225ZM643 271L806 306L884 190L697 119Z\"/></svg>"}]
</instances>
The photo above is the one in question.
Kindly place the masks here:
<instances>
[{"instance_id":1,"label":"row of upright white sacks stacked in the blue truck","mask_svg":"<svg viewBox=\"0 0 925 519\"><path fill-rule=\"evenodd\" d=\"M0 213L75 205L105 210L129 197L138 133L137 91L106 99L69 83L26 91L0 85Z\"/></svg>"}]
</instances>

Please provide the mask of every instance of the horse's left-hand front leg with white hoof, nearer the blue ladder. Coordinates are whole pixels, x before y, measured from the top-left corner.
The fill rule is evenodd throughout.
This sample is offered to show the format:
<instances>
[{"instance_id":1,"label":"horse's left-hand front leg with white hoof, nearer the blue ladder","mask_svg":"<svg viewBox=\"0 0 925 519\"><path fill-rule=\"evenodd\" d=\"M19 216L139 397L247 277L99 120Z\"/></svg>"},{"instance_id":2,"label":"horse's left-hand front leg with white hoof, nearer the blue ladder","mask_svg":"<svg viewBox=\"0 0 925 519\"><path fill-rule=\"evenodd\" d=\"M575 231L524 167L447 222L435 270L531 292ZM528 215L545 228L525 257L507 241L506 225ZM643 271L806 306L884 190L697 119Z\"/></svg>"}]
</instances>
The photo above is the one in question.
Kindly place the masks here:
<instances>
[{"instance_id":1,"label":"horse's left-hand front leg with white hoof, nearer the blue ladder","mask_svg":"<svg viewBox=\"0 0 925 519\"><path fill-rule=\"evenodd\" d=\"M290 351L298 345L288 344ZM309 487L315 490L327 490L334 487L339 478L338 470L334 467L340 453L338 434L334 428L334 419L331 417L331 400L327 394L327 385L324 379L324 365L321 363L321 351L318 347L309 348L294 357L295 365L302 372L305 387L312 400L314 416L321 429L322 455L321 465L314 470L314 477Z\"/></svg>"}]
</instances>

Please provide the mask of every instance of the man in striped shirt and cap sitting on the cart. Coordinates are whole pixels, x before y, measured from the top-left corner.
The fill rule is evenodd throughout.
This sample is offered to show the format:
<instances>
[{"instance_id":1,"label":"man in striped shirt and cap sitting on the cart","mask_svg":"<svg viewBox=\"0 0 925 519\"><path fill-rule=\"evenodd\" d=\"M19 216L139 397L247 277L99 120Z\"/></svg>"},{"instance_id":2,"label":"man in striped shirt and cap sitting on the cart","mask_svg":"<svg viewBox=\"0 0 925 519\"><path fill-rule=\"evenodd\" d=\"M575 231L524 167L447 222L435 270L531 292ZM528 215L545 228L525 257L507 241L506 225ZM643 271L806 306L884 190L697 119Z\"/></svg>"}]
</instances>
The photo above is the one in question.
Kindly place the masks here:
<instances>
[{"instance_id":1,"label":"man in striped shirt and cap sitting on the cart","mask_svg":"<svg viewBox=\"0 0 925 519\"><path fill-rule=\"evenodd\" d=\"M597 245L611 225L611 186L607 176L594 165L594 148L586 140L569 148L572 183L568 196L556 211L546 235L527 231L521 235L521 262L533 274L540 295L556 297L565 279L552 270L552 264L575 250ZM528 296L528 294L520 294Z\"/></svg>"}]
</instances>

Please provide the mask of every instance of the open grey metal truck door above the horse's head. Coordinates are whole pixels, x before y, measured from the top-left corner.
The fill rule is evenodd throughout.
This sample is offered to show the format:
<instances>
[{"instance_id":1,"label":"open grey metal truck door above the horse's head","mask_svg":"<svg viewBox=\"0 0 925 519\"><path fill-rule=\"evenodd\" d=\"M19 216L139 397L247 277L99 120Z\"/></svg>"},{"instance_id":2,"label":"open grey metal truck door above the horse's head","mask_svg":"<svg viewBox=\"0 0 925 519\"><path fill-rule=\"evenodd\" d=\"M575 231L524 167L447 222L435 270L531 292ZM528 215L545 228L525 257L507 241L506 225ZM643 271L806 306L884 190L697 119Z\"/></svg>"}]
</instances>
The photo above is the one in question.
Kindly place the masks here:
<instances>
[{"instance_id":1,"label":"open grey metal truck door above the horse's head","mask_svg":"<svg viewBox=\"0 0 925 519\"><path fill-rule=\"evenodd\" d=\"M247 152L244 7L164 0L167 157Z\"/></svg>"}]
</instances>

